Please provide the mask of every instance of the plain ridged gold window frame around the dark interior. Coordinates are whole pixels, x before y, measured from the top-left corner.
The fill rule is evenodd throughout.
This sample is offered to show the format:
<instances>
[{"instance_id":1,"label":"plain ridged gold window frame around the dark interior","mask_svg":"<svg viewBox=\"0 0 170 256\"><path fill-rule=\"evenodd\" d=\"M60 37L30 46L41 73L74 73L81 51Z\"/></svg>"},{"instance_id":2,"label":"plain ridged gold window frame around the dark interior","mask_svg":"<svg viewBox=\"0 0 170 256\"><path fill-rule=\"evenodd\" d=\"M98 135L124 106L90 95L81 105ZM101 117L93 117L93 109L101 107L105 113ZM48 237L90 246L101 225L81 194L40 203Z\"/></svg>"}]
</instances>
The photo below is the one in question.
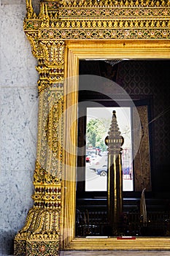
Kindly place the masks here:
<instances>
[{"instance_id":1,"label":"plain ridged gold window frame around the dark interior","mask_svg":"<svg viewBox=\"0 0 170 256\"><path fill-rule=\"evenodd\" d=\"M68 41L66 42L66 78L79 75L80 59L170 59L169 40L117 40L117 41ZM74 90L78 91L78 80L74 80ZM65 90L67 90L65 88ZM74 110L70 115L77 113L77 96L68 94L64 100L67 108L72 102ZM68 118L67 118L68 120ZM65 127L69 127L69 123ZM74 132L73 132L74 131ZM70 140L77 142L77 123L74 123ZM65 135L67 132L65 129ZM65 137L66 138L66 137ZM66 141L67 140L66 138ZM67 155L67 153L66 153ZM169 237L137 237L136 240L117 240L117 238L75 238L75 201L76 187L76 154L66 156L72 165L72 181L64 180L63 205L61 214L61 249L170 249ZM67 160L66 160L67 161ZM70 170L69 170L70 171Z\"/></svg>"}]
</instances>

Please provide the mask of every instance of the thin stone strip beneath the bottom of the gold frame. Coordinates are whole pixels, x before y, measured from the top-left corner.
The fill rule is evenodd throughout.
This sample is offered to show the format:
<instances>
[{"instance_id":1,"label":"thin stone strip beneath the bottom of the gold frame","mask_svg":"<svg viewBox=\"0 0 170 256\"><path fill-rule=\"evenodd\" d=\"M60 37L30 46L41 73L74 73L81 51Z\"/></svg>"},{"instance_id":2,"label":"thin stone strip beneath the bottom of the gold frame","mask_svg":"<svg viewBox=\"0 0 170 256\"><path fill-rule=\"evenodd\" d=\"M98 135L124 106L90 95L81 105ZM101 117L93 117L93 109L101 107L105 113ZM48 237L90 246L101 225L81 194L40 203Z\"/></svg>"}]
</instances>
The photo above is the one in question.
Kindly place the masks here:
<instances>
[{"instance_id":1,"label":"thin stone strip beneath the bottom of the gold frame","mask_svg":"<svg viewBox=\"0 0 170 256\"><path fill-rule=\"evenodd\" d=\"M170 256L170 251L69 251L60 256Z\"/></svg>"}]
</instances>

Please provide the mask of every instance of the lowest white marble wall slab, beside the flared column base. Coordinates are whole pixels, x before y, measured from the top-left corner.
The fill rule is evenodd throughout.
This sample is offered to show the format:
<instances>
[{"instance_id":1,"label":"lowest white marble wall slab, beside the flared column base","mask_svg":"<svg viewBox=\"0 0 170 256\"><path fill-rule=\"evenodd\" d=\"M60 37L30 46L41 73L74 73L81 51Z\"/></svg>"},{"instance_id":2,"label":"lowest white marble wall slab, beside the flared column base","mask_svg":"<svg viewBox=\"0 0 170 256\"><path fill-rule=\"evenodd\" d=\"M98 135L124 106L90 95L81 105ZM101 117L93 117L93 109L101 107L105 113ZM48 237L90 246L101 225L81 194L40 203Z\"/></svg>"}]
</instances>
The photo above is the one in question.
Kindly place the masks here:
<instances>
[{"instance_id":1,"label":"lowest white marble wall slab, beside the flared column base","mask_svg":"<svg viewBox=\"0 0 170 256\"><path fill-rule=\"evenodd\" d=\"M26 170L0 173L0 255L13 253L13 239L33 205L33 173Z\"/></svg>"}]
</instances>

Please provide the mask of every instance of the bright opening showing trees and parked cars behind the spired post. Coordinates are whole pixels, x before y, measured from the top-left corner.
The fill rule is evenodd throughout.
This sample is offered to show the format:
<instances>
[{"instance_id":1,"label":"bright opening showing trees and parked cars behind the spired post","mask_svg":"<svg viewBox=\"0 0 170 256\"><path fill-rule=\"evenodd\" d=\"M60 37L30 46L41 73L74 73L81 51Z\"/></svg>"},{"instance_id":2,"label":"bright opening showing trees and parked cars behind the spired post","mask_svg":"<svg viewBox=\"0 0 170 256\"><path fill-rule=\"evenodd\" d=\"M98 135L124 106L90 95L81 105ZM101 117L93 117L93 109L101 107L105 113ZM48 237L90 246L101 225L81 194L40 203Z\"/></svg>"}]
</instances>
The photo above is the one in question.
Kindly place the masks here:
<instances>
[{"instance_id":1,"label":"bright opening showing trees and parked cars behind the spired post","mask_svg":"<svg viewBox=\"0 0 170 256\"><path fill-rule=\"evenodd\" d=\"M124 138L123 191L133 191L131 108L116 107L117 123ZM107 191L107 146L113 108L87 108L85 191Z\"/></svg>"}]
</instances>

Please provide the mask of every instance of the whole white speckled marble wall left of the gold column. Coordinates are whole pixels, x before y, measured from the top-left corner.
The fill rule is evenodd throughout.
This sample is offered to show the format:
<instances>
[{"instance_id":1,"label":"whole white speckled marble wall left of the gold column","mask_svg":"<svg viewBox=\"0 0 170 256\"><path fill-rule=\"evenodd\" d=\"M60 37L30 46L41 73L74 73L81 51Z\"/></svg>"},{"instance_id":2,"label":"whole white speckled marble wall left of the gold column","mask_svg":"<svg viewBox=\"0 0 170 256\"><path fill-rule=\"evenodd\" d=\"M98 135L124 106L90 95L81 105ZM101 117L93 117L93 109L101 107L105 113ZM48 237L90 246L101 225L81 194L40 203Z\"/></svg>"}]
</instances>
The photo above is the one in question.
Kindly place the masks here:
<instances>
[{"instance_id":1,"label":"whole white speckled marble wall left of the gold column","mask_svg":"<svg viewBox=\"0 0 170 256\"><path fill-rule=\"evenodd\" d=\"M39 12L39 1L33 5ZM0 256L13 254L33 205L38 73L23 32L25 16L25 0L0 0Z\"/></svg>"}]
</instances>

